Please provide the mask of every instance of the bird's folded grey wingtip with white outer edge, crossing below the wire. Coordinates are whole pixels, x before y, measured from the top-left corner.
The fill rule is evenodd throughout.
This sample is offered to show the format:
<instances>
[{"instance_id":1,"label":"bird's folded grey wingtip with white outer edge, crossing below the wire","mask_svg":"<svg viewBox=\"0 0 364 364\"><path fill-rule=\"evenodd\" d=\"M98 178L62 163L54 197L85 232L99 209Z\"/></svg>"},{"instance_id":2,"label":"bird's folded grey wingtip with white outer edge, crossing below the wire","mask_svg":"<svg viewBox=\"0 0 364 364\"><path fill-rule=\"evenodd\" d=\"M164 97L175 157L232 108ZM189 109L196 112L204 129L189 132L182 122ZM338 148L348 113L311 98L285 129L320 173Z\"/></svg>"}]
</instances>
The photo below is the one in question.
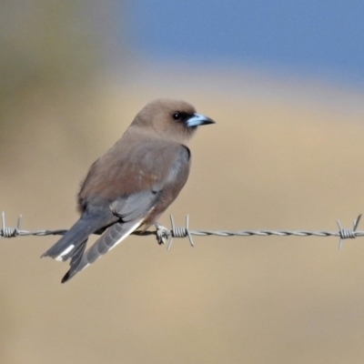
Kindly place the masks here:
<instances>
[{"instance_id":1,"label":"bird's folded grey wingtip with white outer edge, crossing below the wire","mask_svg":"<svg viewBox=\"0 0 364 364\"><path fill-rule=\"evenodd\" d=\"M143 223L143 219L130 221L127 223L116 223L111 227L107 227L105 233L96 240L95 244L86 250L86 244L79 254L76 254L71 259L71 268L62 279L65 283L70 278L74 277L78 272L94 263L98 258L101 258L109 250L115 248L117 244L127 238L137 227ZM86 243L86 242L85 242Z\"/></svg>"}]
</instances>

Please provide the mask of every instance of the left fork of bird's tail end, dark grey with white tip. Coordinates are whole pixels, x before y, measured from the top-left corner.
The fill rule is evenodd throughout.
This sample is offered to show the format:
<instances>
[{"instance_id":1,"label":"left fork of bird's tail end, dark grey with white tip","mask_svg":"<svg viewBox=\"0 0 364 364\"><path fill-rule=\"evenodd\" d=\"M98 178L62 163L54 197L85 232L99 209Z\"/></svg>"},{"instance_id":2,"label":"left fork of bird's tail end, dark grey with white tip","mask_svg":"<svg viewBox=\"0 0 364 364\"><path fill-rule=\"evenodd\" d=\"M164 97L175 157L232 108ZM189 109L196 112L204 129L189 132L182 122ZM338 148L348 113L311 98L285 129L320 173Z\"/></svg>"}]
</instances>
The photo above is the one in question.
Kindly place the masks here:
<instances>
[{"instance_id":1,"label":"left fork of bird's tail end, dark grey with white tip","mask_svg":"<svg viewBox=\"0 0 364 364\"><path fill-rule=\"evenodd\" d=\"M54 246L45 251L41 258L50 257L56 260L67 260L83 242L86 242L88 236L98 228L99 223L96 220L81 217Z\"/></svg>"}]
</instances>

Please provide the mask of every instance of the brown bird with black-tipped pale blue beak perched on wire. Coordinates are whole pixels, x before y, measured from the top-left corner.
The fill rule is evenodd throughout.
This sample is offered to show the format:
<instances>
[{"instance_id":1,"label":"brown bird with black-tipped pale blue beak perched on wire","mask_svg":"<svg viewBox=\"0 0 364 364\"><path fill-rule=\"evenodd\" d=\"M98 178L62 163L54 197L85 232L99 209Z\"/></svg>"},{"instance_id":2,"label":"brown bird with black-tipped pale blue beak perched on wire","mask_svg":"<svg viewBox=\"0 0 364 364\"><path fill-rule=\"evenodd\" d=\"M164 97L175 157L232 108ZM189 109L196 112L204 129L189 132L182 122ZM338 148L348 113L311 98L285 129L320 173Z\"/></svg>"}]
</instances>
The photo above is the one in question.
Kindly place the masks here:
<instances>
[{"instance_id":1,"label":"brown bird with black-tipped pale blue beak perched on wire","mask_svg":"<svg viewBox=\"0 0 364 364\"><path fill-rule=\"evenodd\" d=\"M145 106L124 135L88 170L77 196L76 223L42 255L70 259L62 283L115 248L137 228L146 230L187 182L187 142L197 126L215 121L186 101L157 99ZM92 234L102 234L86 250Z\"/></svg>"}]
</instances>

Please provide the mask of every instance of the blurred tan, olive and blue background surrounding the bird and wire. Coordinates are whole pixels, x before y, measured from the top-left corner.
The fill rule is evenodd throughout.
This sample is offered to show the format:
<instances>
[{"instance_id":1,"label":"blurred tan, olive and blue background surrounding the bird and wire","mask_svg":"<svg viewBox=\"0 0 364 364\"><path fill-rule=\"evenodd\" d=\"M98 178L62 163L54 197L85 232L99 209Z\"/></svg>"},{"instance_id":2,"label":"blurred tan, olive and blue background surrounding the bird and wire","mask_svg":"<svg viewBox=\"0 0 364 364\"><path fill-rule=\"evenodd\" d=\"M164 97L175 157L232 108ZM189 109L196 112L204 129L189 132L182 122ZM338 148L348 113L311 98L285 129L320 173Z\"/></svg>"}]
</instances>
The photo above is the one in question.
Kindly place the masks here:
<instances>
[{"instance_id":1,"label":"blurred tan, olive and blue background surrounding the bird and wire","mask_svg":"<svg viewBox=\"0 0 364 364\"><path fill-rule=\"evenodd\" d=\"M70 227L88 167L157 97L214 118L160 223L336 230L364 212L360 1L1 1L0 210ZM360 229L360 226L359 226ZM363 227L361 228L363 229ZM130 237L66 285L1 240L2 363L362 363L364 246Z\"/></svg>"}]
</instances>

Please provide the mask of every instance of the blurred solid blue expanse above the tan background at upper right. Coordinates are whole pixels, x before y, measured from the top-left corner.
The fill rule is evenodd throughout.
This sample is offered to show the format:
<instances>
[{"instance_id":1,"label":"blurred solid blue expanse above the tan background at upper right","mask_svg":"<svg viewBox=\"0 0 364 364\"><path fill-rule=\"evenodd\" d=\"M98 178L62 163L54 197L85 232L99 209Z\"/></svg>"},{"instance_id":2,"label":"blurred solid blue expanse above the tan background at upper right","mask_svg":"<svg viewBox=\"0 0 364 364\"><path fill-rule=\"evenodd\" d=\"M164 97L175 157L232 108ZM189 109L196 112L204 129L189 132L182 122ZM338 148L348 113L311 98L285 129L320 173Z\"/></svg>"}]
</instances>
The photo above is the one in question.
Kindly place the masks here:
<instances>
[{"instance_id":1,"label":"blurred solid blue expanse above the tan background at upper right","mask_svg":"<svg viewBox=\"0 0 364 364\"><path fill-rule=\"evenodd\" d=\"M139 0L127 37L154 60L231 63L364 87L364 1Z\"/></svg>"}]
</instances>

